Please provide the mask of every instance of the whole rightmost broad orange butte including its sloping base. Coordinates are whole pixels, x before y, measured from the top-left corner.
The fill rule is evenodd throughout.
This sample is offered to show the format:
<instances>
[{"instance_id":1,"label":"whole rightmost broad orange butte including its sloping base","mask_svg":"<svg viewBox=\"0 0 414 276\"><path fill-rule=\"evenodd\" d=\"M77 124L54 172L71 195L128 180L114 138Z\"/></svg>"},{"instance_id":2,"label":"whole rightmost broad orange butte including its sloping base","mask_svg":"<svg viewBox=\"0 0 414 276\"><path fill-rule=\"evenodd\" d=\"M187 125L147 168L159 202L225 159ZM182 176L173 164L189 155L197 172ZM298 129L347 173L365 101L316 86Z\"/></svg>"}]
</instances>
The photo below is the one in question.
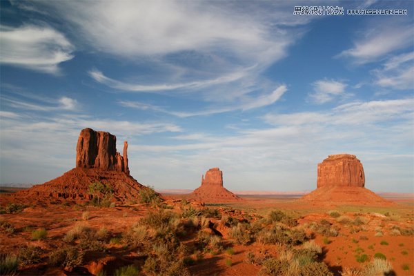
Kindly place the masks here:
<instances>
[{"instance_id":1,"label":"whole rightmost broad orange butte including its sloping base","mask_svg":"<svg viewBox=\"0 0 414 276\"><path fill-rule=\"evenodd\" d=\"M302 201L322 205L390 205L393 204L365 188L365 174L355 155L329 155L317 165L317 188Z\"/></svg>"}]
</instances>

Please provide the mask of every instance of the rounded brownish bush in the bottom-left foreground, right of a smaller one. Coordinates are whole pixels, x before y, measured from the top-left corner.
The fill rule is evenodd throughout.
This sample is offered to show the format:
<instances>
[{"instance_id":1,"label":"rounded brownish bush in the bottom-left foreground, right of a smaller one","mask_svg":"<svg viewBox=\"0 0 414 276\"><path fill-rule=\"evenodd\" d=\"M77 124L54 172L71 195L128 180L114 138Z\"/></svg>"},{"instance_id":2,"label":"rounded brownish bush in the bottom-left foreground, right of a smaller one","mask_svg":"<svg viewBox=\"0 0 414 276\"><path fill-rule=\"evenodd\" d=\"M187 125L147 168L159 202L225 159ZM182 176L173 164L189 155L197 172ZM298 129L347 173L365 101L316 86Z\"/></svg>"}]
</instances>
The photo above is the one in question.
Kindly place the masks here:
<instances>
[{"instance_id":1,"label":"rounded brownish bush in the bottom-left foreground, right of a smaller one","mask_svg":"<svg viewBox=\"0 0 414 276\"><path fill-rule=\"evenodd\" d=\"M52 266L63 266L65 270L71 270L80 266L83 262L83 252L79 252L76 246L68 246L49 255L49 264Z\"/></svg>"}]
</instances>

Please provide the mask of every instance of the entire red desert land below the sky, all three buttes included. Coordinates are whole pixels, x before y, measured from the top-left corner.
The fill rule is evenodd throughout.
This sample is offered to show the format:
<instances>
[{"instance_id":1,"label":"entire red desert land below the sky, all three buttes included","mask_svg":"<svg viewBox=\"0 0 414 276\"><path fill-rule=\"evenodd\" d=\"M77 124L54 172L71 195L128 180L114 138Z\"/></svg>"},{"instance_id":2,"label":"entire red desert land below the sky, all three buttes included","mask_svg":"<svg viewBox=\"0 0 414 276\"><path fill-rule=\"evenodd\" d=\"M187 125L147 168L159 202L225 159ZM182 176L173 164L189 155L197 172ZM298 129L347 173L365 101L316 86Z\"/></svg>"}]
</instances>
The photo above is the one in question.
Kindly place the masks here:
<instances>
[{"instance_id":1,"label":"entire red desert land below the sky, all three buttes included","mask_svg":"<svg viewBox=\"0 0 414 276\"><path fill-rule=\"evenodd\" d=\"M413 195L366 189L355 155L303 197L235 195L219 168L183 195L139 184L115 145L86 128L76 168L1 188L1 275L414 275Z\"/></svg>"}]
</instances>

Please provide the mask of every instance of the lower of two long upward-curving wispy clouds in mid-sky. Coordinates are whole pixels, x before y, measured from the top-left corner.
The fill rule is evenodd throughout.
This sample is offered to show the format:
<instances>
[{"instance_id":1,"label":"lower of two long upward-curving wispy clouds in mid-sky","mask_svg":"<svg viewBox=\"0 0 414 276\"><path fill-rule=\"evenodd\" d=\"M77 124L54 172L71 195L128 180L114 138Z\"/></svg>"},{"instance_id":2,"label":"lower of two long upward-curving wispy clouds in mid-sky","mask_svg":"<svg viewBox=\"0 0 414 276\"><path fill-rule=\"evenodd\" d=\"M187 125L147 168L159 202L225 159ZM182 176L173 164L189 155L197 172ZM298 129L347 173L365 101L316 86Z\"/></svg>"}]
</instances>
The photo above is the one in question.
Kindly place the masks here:
<instances>
[{"instance_id":1,"label":"lower of two long upward-curving wispy clouds in mid-sky","mask_svg":"<svg viewBox=\"0 0 414 276\"><path fill-rule=\"evenodd\" d=\"M128 107L128 108L136 108L139 110L153 110L157 112L164 112L169 115L173 115L176 117L194 117L194 116L207 116L213 114L219 114L223 112L230 112L235 110L250 110L254 108L261 108L263 106L269 106L275 103L277 100L284 95L284 92L287 91L285 85L279 86L273 92L268 95L261 95L259 97L243 97L239 102L232 103L229 106L221 106L215 108L207 108L206 110L200 110L197 112L184 112L184 111L173 111L168 110L166 108L162 108L160 106L153 106L148 103L141 103L139 101L118 101L119 105Z\"/></svg>"}]
</instances>

